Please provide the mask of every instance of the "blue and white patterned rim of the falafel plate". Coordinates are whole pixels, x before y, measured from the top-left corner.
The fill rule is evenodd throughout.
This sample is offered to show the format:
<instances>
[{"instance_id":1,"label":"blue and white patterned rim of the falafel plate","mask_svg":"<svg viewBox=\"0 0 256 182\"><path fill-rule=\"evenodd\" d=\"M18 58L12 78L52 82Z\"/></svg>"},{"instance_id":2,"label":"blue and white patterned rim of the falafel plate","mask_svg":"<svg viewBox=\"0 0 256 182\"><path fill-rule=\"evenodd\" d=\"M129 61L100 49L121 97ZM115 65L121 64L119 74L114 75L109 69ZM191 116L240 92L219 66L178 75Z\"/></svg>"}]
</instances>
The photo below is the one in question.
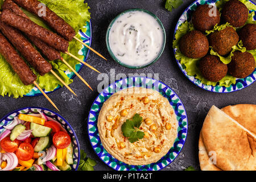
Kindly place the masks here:
<instances>
[{"instance_id":1,"label":"blue and white patterned rim of the falafel plate","mask_svg":"<svg viewBox=\"0 0 256 182\"><path fill-rule=\"evenodd\" d=\"M217 1L219 0L206 0L205 3L209 3L209 4L215 4ZM255 5L254 2L250 1L249 2L253 3ZM177 21L176 27L175 27L175 31L174 31L174 40L175 40L175 34L177 31L177 28L180 26L181 23L185 22L185 20L187 20L187 11L193 6L193 5L197 5L197 3L201 3L201 0L196 0L193 3L191 3L191 5L189 5L187 7L187 9L185 9L183 11L183 13L181 14L179 20ZM204 4L205 4L204 3ZM256 10L254 10L256 12ZM176 49L174 49L174 55L176 54ZM183 74L185 75L185 77L188 78L189 81L191 81L193 84L195 84L196 86L198 86L199 88L202 88L204 90L210 91L210 92L214 92L214 93L231 93L231 92L236 92L238 90L241 90L243 88L246 88L247 86L250 86L251 84L253 84L256 81L256 68L254 69L253 73L251 73L251 75L247 76L246 78L236 78L236 84L232 84L230 85L229 88L226 88L225 86L220 86L218 83L216 86L212 86L212 85L205 85L202 84L201 81L197 78L195 78L194 76L189 76L187 75L187 72L185 71L185 69L182 67L182 65L180 64L180 60L177 60L175 57L175 60L177 62L177 64L179 65L179 68L181 70L181 72L183 72ZM247 82L246 80L249 79L252 80L252 82ZM237 84L241 83L242 87L241 88L237 88ZM218 87L218 90L216 90L216 88ZM230 89L230 91L228 90Z\"/></svg>"}]
</instances>

